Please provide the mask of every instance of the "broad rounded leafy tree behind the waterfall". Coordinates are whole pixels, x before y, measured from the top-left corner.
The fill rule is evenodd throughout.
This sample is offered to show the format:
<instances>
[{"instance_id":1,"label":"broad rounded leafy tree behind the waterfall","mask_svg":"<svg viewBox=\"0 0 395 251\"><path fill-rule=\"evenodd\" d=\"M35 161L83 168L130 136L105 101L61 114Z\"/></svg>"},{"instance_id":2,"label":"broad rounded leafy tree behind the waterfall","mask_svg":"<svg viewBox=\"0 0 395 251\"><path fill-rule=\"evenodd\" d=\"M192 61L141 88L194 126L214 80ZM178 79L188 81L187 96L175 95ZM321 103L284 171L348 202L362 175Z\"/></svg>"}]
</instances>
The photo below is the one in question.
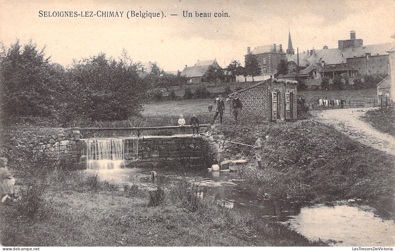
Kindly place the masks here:
<instances>
[{"instance_id":1,"label":"broad rounded leafy tree behind the waterfall","mask_svg":"<svg viewBox=\"0 0 395 251\"><path fill-rule=\"evenodd\" d=\"M137 75L131 61L107 59L104 53L74 62L68 78L77 92L68 103L70 109L93 120L123 120L141 115L147 87ZM76 100L77 99L77 100Z\"/></svg>"}]
</instances>

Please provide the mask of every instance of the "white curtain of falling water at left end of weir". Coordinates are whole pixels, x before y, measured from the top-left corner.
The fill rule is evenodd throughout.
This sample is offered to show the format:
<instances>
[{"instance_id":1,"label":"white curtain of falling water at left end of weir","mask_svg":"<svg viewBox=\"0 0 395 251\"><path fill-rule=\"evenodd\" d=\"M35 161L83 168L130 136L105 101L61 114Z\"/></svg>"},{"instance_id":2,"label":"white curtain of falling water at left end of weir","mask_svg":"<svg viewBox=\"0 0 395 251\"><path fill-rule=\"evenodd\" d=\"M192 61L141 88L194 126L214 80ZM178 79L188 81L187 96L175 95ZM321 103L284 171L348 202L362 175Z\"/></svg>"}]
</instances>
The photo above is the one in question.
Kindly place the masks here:
<instances>
[{"instance_id":1,"label":"white curtain of falling water at left end of weir","mask_svg":"<svg viewBox=\"0 0 395 251\"><path fill-rule=\"evenodd\" d=\"M125 166L125 139L81 139L87 169L115 169Z\"/></svg>"}]
</instances>

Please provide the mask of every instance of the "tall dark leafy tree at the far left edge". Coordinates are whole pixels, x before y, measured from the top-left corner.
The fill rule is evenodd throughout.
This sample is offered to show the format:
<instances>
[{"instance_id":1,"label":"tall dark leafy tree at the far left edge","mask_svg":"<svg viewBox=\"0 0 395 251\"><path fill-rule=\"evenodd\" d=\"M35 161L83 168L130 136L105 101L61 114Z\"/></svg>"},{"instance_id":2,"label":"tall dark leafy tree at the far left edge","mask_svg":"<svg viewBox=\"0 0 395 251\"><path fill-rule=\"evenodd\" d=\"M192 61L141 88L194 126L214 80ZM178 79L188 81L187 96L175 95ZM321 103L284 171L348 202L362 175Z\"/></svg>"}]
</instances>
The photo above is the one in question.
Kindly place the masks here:
<instances>
[{"instance_id":1,"label":"tall dark leafy tree at the far left edge","mask_svg":"<svg viewBox=\"0 0 395 251\"><path fill-rule=\"evenodd\" d=\"M37 49L31 40L19 40L0 53L1 110L9 115L49 116L56 109L56 87L60 79L45 58L45 47Z\"/></svg>"}]
</instances>

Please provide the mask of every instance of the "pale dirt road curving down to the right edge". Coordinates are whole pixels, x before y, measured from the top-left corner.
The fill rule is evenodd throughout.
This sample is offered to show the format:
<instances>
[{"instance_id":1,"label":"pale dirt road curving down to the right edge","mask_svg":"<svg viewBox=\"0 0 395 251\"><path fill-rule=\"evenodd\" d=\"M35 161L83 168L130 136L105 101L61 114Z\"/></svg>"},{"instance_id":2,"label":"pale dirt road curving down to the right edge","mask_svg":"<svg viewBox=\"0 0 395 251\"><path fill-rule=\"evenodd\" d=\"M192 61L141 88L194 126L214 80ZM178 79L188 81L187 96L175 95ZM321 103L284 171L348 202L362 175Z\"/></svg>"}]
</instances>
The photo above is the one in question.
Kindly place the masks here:
<instances>
[{"instance_id":1,"label":"pale dirt road curving down to the right edge","mask_svg":"<svg viewBox=\"0 0 395 251\"><path fill-rule=\"evenodd\" d=\"M395 156L395 137L377 131L359 118L369 109L373 108L322 110L311 111L311 113L314 116L313 120L333 125L335 129L351 139Z\"/></svg>"}]
</instances>

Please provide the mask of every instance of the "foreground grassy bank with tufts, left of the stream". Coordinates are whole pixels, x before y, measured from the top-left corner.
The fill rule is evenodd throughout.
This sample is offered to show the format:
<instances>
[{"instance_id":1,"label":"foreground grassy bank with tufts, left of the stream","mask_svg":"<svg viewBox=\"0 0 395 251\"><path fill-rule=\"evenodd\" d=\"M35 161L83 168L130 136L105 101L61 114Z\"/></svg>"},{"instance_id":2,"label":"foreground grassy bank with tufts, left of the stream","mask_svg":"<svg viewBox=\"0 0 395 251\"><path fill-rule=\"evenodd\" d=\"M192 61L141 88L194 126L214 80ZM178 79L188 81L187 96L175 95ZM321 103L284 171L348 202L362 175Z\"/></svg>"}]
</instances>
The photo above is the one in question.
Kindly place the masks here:
<instances>
[{"instance_id":1,"label":"foreground grassy bank with tufts, left of the stream","mask_svg":"<svg viewBox=\"0 0 395 251\"><path fill-rule=\"evenodd\" d=\"M100 181L95 174L55 171L29 181L21 178L17 201L1 207L2 245L325 245L201 199L199 186L187 181L150 194Z\"/></svg>"}]
</instances>

